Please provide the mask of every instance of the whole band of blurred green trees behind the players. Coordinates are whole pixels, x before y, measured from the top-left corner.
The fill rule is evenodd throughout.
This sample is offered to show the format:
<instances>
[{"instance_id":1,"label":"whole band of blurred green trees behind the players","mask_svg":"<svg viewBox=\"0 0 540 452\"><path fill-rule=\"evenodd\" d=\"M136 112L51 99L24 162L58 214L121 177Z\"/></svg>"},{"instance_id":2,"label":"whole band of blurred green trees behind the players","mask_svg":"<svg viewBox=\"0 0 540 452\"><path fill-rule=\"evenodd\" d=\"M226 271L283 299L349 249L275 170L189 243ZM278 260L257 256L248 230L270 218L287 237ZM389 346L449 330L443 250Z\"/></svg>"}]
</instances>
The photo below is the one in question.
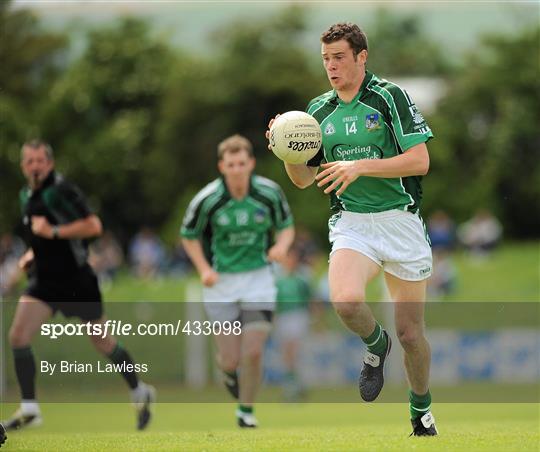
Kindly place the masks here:
<instances>
[{"instance_id":1,"label":"whole band of blurred green trees behind the players","mask_svg":"<svg viewBox=\"0 0 540 452\"><path fill-rule=\"evenodd\" d=\"M0 6L0 29L0 230L19 217L20 146L41 136L121 239L145 224L173 242L187 202L217 174L217 143L239 132L255 144L257 171L284 187L297 222L325 243L328 201L315 187L293 188L264 138L275 113L328 90L304 45L303 8L220 27L210 55L172 46L140 18L82 31L76 56L67 30L46 30L10 2ZM424 215L443 208L462 221L488 207L508 236L538 237L539 30L485 37L456 65L417 17L377 13L369 69L448 86L428 116L436 139Z\"/></svg>"}]
</instances>

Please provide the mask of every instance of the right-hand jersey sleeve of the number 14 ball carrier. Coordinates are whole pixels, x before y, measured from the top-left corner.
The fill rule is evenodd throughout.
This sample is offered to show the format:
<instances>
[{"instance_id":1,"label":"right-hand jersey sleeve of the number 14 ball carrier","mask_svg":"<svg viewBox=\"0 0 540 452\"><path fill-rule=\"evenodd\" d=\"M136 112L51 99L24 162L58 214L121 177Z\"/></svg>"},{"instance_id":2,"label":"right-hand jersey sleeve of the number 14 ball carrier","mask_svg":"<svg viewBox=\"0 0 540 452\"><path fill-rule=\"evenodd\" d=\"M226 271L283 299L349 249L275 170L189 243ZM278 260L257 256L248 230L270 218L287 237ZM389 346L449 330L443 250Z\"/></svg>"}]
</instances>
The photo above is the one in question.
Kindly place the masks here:
<instances>
[{"instance_id":1,"label":"right-hand jersey sleeve of the number 14 ball carrier","mask_svg":"<svg viewBox=\"0 0 540 452\"><path fill-rule=\"evenodd\" d=\"M406 151L433 138L433 132L408 93L398 86L390 92L390 119L400 148Z\"/></svg>"}]
</instances>

